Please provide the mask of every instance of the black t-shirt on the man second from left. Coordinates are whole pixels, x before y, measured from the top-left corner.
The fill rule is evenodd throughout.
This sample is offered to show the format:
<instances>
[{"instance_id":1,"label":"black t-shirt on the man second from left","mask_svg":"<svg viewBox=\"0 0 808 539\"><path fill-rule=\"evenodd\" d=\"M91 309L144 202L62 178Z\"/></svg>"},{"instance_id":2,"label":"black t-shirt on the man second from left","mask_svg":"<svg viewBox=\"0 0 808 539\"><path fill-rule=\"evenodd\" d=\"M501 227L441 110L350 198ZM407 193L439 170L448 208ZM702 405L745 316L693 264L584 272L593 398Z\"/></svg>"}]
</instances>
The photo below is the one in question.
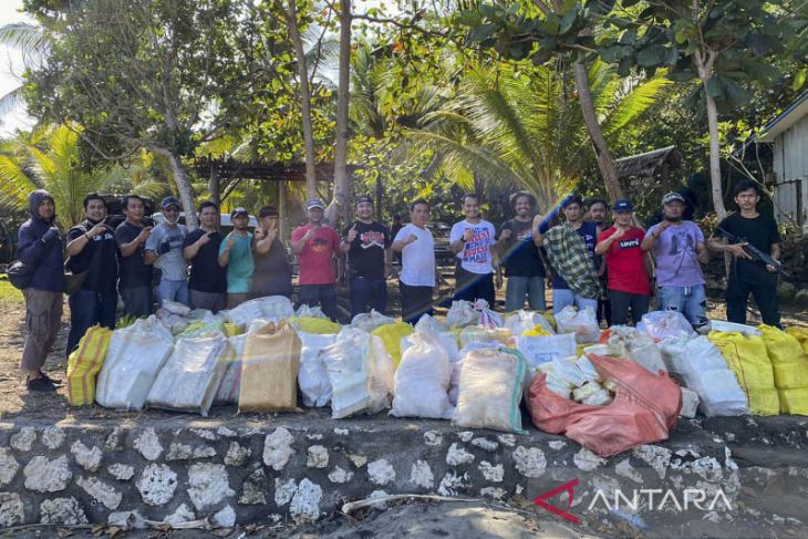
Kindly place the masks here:
<instances>
[{"instance_id":1,"label":"black t-shirt on the man second from left","mask_svg":"<svg viewBox=\"0 0 808 539\"><path fill-rule=\"evenodd\" d=\"M95 222L83 220L68 231L68 243L89 232ZM84 249L74 257L70 257L68 269L73 273L86 271L81 290L93 292L114 293L117 282L117 243L112 229L107 227L104 234L87 241Z\"/></svg>"}]
</instances>

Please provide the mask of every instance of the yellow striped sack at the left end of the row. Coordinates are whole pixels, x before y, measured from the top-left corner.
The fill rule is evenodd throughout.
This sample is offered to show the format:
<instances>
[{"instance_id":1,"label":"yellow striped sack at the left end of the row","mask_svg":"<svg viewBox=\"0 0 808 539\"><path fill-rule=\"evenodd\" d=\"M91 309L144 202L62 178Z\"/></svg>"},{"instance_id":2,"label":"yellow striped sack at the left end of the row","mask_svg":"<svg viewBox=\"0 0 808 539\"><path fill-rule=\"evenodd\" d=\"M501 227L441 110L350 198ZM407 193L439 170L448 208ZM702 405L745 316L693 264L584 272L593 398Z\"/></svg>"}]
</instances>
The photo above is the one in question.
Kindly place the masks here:
<instances>
[{"instance_id":1,"label":"yellow striped sack at the left end of the row","mask_svg":"<svg viewBox=\"0 0 808 539\"><path fill-rule=\"evenodd\" d=\"M84 406L95 401L95 379L104 364L110 339L112 330L93 325L68 357L68 401L71 406Z\"/></svg>"}]
</instances>

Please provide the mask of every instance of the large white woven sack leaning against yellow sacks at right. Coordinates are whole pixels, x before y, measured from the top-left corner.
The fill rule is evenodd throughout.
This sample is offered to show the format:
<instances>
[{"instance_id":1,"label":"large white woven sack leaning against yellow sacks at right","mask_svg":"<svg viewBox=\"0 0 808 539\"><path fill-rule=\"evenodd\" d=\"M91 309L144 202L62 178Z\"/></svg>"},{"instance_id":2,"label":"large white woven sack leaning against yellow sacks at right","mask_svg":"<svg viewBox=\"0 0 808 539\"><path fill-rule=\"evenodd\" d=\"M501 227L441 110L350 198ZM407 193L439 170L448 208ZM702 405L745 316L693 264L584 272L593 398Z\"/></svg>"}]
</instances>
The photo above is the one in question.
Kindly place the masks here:
<instances>
[{"instance_id":1,"label":"large white woven sack leaning against yellow sacks at right","mask_svg":"<svg viewBox=\"0 0 808 539\"><path fill-rule=\"evenodd\" d=\"M700 398L707 417L746 415L746 393L738 385L721 351L706 336L669 338L660 343L667 371Z\"/></svg>"}]
</instances>

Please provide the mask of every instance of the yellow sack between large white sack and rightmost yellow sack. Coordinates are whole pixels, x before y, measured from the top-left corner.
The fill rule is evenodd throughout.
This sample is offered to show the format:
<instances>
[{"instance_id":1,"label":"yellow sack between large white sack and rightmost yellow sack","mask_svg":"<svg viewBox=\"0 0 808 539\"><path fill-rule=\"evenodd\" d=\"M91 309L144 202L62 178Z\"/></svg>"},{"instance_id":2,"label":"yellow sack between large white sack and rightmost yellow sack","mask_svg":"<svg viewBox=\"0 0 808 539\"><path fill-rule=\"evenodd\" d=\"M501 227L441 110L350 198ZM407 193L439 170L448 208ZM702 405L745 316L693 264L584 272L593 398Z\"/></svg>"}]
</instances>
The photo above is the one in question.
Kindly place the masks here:
<instances>
[{"instance_id":1,"label":"yellow sack between large white sack and rightmost yellow sack","mask_svg":"<svg viewBox=\"0 0 808 539\"><path fill-rule=\"evenodd\" d=\"M749 400L753 415L777 415L780 402L775 375L763 336L738 332L711 331L707 339L721 350Z\"/></svg>"}]
</instances>

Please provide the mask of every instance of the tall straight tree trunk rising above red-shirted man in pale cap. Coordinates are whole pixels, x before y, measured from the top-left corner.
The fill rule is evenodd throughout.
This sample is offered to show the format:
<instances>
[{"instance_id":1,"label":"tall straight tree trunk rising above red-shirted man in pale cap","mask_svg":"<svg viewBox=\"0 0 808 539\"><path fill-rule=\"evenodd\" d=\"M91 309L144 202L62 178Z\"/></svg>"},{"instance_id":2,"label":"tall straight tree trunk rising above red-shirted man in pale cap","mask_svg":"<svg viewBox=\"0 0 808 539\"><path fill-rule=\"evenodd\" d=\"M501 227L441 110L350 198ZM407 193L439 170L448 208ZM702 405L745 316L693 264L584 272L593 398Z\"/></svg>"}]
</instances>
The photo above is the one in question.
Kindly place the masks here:
<instances>
[{"instance_id":1,"label":"tall straight tree trunk rising above red-shirted man in pale cap","mask_svg":"<svg viewBox=\"0 0 808 539\"><path fill-rule=\"evenodd\" d=\"M340 79L336 96L336 141L334 143L334 198L327 218L335 224L340 216L348 217L348 197L351 191L348 162L348 107L351 77L351 1L340 2Z\"/></svg>"}]
</instances>

